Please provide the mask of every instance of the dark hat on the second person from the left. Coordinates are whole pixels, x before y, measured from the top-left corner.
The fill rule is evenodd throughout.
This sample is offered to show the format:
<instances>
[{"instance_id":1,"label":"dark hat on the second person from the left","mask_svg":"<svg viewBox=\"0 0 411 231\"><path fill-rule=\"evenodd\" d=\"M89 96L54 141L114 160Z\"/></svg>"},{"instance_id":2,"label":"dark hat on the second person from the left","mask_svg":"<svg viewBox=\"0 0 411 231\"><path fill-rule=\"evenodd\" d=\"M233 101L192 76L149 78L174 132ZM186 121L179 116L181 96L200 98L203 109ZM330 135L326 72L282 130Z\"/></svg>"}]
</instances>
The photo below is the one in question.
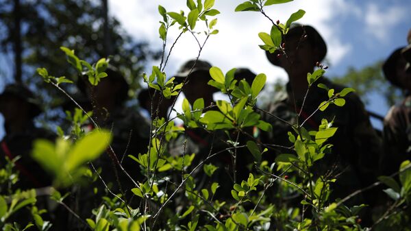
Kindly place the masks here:
<instances>
[{"instance_id":1,"label":"dark hat on the second person from the left","mask_svg":"<svg viewBox=\"0 0 411 231\"><path fill-rule=\"evenodd\" d=\"M107 73L106 78L120 83L121 87L119 93L116 95L116 99L121 102L125 101L129 91L129 84L125 80L125 77L121 74L119 69L112 64L108 64L107 69L105 69L104 72ZM86 94L86 82L88 82L88 76L86 75L86 72L84 72L80 80L77 82L77 87L84 94Z\"/></svg>"}]
</instances>

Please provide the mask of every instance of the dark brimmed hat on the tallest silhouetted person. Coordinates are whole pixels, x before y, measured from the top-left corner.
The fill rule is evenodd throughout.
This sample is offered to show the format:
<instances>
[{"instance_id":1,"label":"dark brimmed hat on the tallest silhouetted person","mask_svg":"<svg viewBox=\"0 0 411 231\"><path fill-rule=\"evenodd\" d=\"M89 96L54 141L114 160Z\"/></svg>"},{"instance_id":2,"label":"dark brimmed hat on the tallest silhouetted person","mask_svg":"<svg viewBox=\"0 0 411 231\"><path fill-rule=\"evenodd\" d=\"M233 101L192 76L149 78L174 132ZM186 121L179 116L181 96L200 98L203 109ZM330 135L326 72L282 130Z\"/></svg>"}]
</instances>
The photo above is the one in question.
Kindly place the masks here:
<instances>
[{"instance_id":1,"label":"dark brimmed hat on the tallest silhouetted person","mask_svg":"<svg viewBox=\"0 0 411 231\"><path fill-rule=\"evenodd\" d=\"M304 32L307 35L308 42L310 42L313 47L319 50L319 60L318 61L321 62L325 58L325 55L327 54L327 45L325 44L323 37L319 34L319 32L316 31L316 29L314 29L314 27L310 25L301 25L299 23L292 23L290 26L290 29L288 30L288 33L286 34L286 39L292 36L301 37L304 34ZM269 51L266 51L267 58L275 66L279 66L279 58L277 57L279 53L280 53L279 50L275 51L274 53L270 53Z\"/></svg>"}]
</instances>

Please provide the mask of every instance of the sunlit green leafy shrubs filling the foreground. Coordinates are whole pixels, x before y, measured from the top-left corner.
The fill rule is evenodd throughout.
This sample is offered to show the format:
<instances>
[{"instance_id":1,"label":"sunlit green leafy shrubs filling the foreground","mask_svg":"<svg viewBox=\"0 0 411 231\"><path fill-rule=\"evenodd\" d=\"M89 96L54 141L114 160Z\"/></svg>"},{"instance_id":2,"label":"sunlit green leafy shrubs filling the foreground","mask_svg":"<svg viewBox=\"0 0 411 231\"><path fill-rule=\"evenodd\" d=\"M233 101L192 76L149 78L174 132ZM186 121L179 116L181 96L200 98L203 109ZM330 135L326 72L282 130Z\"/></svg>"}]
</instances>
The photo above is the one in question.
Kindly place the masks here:
<instances>
[{"instance_id":1,"label":"sunlit green leafy shrubs filling the foreground","mask_svg":"<svg viewBox=\"0 0 411 231\"><path fill-rule=\"evenodd\" d=\"M251 0L241 3L235 10L260 12L270 19L264 13L264 8L288 1L291 0ZM188 14L184 14L183 11L167 12L159 6L158 10L162 16L160 38L166 47L166 42L169 42L166 39L169 29L179 27L182 34L190 33L198 41L200 56L209 36L218 34L218 30L214 29L217 21L211 18L219 14L219 11L213 8L214 0L188 0L187 7ZM286 23L272 21L271 32L258 34L264 42L260 47L271 52L279 50L286 55L281 44L282 37L287 34L291 23L301 19L304 13L303 10L295 12ZM197 34L195 29L200 23L203 23L206 29L202 28L201 33ZM108 60L105 58L91 65L82 60L80 52L77 56L71 49L61 49L74 70L79 74L86 72L93 86L106 77ZM165 54L166 51L163 51L160 65L153 66L152 73L143 75L143 79L150 88L155 89L159 100L173 99L175 103L175 96L179 95L188 79L177 83L174 77L167 77L164 66L168 56L164 56ZM313 73L308 73L309 88L323 91L328 98L314 113L327 110L332 104L344 110L344 97L353 91L353 88L344 88L337 92L321 84L317 88L317 81L324 75L325 69L320 66ZM40 68L37 71L45 82L66 95L61 86L72 81L69 78L53 77L60 74L50 70ZM266 75L258 74L252 84L249 84L245 80L236 80L234 73L235 69L227 73L223 73L217 66L210 69L212 80L208 84L227 94L229 101L216 101L215 106L206 106L203 99L197 99L193 104L184 99L183 112L177 114L177 117L184 121L184 127L176 126L173 118L158 118L153 113L147 150L124 159L125 162L132 162L134 169L138 169L141 174L140 178L126 174L129 176L127 182L132 184L129 189L121 190L119 185L120 190L114 190L115 186L110 186L110 182L104 182L101 178L104 172L116 171L116 168L97 169L93 165L99 154L104 156L112 153L110 141L113 137L110 132L100 129L98 121L83 108L69 114L71 130L64 132L59 129L60 137L55 143L39 140L34 144L34 158L54 176L53 188L45 194L51 195L51 199L71 212L80 227L97 231L384 230L386 226L401 230L410 229L404 225L410 223L409 214L406 213L411 199L410 161L403 162L399 167L396 174L398 178L384 176L379 178L380 182L370 186L384 184L384 191L390 199L386 198L384 208L379 209L379 214L375 213L374 223L366 228L360 219L366 205L346 203L360 191L335 199L332 197L332 186L338 180L336 175L319 175L314 172L319 160L332 154L332 145L327 141L338 129L333 127L333 121L323 119L318 129L313 131L303 127L306 122L303 120L290 124L288 139L292 145L287 147L288 152L276 156L272 161L266 158L266 153L277 149L277 146L261 143L258 137L250 132L256 128L266 132L275 130L275 127L261 119L260 110L256 107ZM155 110L158 108L152 108L153 112ZM93 132L83 129L84 124L88 123L86 121L94 125ZM186 130L194 128L212 134L213 141L215 138L215 141L226 146L219 149L211 145L206 156L186 154L184 151L178 156L172 156L169 152L171 143L178 137L184 137ZM185 143L182 145L185 149ZM240 154L244 153L251 157L251 162L247 163L247 168L241 169L244 171L242 175L246 177L238 179L236 162ZM228 168L234 179L233 184L215 175L219 168L224 168L219 165L219 157L223 154L229 156L234 165L231 169ZM123 160L119 162L113 158L112 162L113 165L121 165ZM40 197L41 193L44 195L44 192L18 189L12 191L11 185L18 178L12 163L13 160L5 169L1 169L0 183L6 186L4 189L10 189L0 197L0 224L3 230L49 230L53 224L42 217L46 217L50 211L36 207L36 198ZM127 172L123 167L120 167L120 171ZM196 178L201 175L206 176L205 184L200 184ZM65 194L67 189L81 185L84 181L103 182L104 185L103 189L100 189L104 195L97 193L97 189L90 189L94 190L94 197L99 197L100 203L87 212L88 217L76 215L66 204L69 197L69 194ZM134 199L130 200L123 191L132 191ZM30 211L31 223L13 223L10 217L21 210Z\"/></svg>"}]
</instances>

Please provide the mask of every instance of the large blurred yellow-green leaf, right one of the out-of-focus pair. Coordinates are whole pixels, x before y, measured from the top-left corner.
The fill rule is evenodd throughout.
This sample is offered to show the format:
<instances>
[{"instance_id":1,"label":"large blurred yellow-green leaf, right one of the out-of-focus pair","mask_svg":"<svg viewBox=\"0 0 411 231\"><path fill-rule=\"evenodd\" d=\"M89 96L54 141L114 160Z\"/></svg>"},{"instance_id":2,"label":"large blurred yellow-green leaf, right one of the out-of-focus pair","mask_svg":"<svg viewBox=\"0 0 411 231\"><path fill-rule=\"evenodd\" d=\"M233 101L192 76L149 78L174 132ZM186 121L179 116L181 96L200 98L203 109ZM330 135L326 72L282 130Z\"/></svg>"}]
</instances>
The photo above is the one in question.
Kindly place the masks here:
<instances>
[{"instance_id":1,"label":"large blurred yellow-green leaf, right one of the out-of-focus pair","mask_svg":"<svg viewBox=\"0 0 411 231\"><path fill-rule=\"evenodd\" d=\"M94 160L110 145L111 134L103 130L93 131L77 141L67 154L64 162L66 169L71 171L84 162Z\"/></svg>"}]
</instances>

